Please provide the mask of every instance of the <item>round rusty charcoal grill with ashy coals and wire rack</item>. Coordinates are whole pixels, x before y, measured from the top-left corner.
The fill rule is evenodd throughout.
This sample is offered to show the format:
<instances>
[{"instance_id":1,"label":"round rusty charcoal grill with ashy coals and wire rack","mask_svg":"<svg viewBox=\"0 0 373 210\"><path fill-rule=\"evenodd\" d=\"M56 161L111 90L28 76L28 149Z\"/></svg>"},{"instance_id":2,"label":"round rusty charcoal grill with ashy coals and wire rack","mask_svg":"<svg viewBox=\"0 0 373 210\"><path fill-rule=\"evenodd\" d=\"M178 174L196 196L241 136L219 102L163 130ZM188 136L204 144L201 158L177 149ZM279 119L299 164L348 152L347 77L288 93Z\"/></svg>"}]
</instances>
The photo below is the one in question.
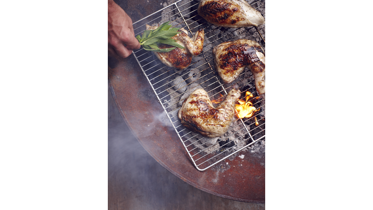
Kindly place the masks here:
<instances>
[{"instance_id":1,"label":"round rusty charcoal grill with ashy coals and wire rack","mask_svg":"<svg viewBox=\"0 0 373 210\"><path fill-rule=\"evenodd\" d=\"M248 2L264 16L264 0ZM133 19L135 35L145 30L145 24L166 21L184 27L190 36L199 28L205 31L203 53L193 57L187 70L168 68L143 49L126 59L109 57L111 93L137 140L163 167L196 188L237 201L264 203L265 99L256 98L251 72L243 72L232 84L223 84L213 67L211 49L238 38L255 40L265 49L265 26L221 29L217 33L218 27L198 16L196 0L174 1L167 6L159 0L152 4L134 0L117 3L123 8L127 4L125 11ZM255 107L261 111L250 119L236 119L225 136L206 140L177 119L186 97L183 92L194 86L204 88L216 100L233 87L250 91L256 98ZM255 125L254 117L259 125Z\"/></svg>"}]
</instances>

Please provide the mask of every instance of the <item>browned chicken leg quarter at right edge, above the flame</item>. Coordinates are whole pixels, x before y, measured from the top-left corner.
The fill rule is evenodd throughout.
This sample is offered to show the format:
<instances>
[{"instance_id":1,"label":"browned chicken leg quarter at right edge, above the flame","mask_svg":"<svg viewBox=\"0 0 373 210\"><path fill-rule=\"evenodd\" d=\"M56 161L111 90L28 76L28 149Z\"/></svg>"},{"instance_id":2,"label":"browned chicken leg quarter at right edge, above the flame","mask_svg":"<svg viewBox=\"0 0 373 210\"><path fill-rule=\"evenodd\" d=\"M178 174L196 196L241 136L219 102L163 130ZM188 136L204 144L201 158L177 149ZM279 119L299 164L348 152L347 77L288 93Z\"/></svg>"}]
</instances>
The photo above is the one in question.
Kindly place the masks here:
<instances>
[{"instance_id":1,"label":"browned chicken leg quarter at right edge, above the flame","mask_svg":"<svg viewBox=\"0 0 373 210\"><path fill-rule=\"evenodd\" d=\"M225 83L231 83L245 69L254 75L259 94L266 92L266 58L259 43L248 39L223 42L212 50L215 68Z\"/></svg>"}]
</instances>

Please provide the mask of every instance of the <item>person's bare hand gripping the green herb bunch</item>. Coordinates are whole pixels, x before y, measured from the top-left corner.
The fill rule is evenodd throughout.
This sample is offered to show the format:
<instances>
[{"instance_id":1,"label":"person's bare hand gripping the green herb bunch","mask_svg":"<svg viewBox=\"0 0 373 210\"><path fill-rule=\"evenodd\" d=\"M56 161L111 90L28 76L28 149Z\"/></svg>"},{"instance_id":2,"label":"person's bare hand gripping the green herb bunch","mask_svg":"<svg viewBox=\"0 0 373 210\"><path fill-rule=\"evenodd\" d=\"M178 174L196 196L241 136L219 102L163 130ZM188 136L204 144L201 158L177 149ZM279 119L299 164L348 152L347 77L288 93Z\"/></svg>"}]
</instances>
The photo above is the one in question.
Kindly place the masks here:
<instances>
[{"instance_id":1,"label":"person's bare hand gripping the green herb bunch","mask_svg":"<svg viewBox=\"0 0 373 210\"><path fill-rule=\"evenodd\" d=\"M140 43L135 37L131 18L114 2L108 0L108 53L112 56L128 57Z\"/></svg>"}]
</instances>

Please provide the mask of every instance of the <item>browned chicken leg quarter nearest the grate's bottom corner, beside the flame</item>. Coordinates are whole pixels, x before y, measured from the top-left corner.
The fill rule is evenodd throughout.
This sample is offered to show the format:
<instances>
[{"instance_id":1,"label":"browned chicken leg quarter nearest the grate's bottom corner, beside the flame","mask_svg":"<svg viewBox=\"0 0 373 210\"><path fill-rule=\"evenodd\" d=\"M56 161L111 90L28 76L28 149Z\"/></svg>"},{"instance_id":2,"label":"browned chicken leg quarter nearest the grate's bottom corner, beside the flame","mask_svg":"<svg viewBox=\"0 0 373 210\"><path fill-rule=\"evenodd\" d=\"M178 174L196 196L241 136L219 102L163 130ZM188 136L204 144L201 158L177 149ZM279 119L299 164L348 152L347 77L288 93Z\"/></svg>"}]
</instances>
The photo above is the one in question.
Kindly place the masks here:
<instances>
[{"instance_id":1,"label":"browned chicken leg quarter nearest the grate's bottom corner, beside the flame","mask_svg":"<svg viewBox=\"0 0 373 210\"><path fill-rule=\"evenodd\" d=\"M181 106L178 117L189 130L205 137L220 137L227 132L235 114L235 102L241 91L232 89L217 107L214 107L204 89L194 90Z\"/></svg>"}]
</instances>

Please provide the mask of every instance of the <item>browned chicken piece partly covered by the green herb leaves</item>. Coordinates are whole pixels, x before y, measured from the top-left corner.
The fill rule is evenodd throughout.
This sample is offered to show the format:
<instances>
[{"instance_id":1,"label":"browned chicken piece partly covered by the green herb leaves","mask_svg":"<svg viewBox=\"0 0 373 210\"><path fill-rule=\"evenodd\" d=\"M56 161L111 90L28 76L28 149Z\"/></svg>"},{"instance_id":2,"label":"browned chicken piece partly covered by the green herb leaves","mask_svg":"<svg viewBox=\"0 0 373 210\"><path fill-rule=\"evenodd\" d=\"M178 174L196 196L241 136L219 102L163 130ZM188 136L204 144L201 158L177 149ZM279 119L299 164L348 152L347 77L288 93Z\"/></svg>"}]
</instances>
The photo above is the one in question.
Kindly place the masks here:
<instances>
[{"instance_id":1,"label":"browned chicken piece partly covered by the green herb leaves","mask_svg":"<svg viewBox=\"0 0 373 210\"><path fill-rule=\"evenodd\" d=\"M156 28L158 28L158 26L146 25L146 30L154 30ZM199 55L202 52L204 31L203 29L198 30L192 39L187 35L188 32L184 28L181 28L179 32L181 33L174 35L171 38L176 40L176 42L181 46L185 47L185 49L175 48L168 53L153 53L166 66L182 70L190 65L192 62L192 55ZM158 47L164 49L172 46L162 44Z\"/></svg>"}]
</instances>

